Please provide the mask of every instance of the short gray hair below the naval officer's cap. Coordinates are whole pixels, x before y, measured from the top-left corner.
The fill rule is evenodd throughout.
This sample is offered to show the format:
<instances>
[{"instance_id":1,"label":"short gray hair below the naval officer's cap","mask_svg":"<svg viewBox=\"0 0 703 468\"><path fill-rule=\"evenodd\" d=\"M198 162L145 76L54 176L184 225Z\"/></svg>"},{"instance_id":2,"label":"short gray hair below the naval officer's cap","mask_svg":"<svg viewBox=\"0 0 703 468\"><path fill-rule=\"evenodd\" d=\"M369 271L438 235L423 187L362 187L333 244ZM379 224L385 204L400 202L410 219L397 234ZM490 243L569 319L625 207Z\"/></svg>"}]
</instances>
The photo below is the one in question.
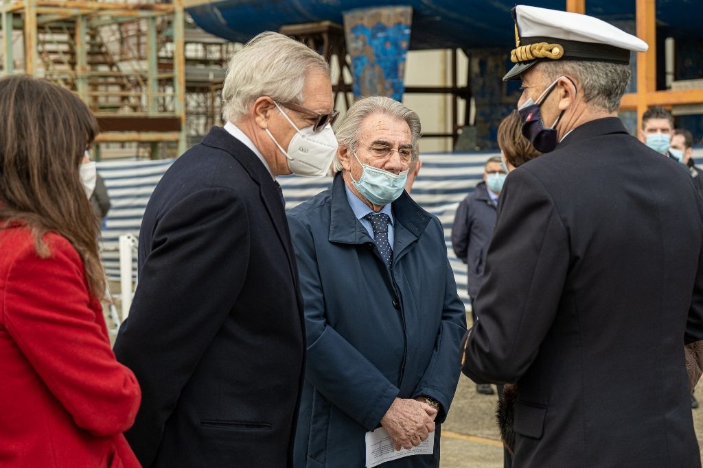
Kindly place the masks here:
<instances>
[{"instance_id":1,"label":"short gray hair below the naval officer's cap","mask_svg":"<svg viewBox=\"0 0 703 468\"><path fill-rule=\"evenodd\" d=\"M583 60L541 62L539 67L550 81L559 76L571 76L581 84L583 101L593 107L617 112L632 74L629 65Z\"/></svg>"}]
</instances>

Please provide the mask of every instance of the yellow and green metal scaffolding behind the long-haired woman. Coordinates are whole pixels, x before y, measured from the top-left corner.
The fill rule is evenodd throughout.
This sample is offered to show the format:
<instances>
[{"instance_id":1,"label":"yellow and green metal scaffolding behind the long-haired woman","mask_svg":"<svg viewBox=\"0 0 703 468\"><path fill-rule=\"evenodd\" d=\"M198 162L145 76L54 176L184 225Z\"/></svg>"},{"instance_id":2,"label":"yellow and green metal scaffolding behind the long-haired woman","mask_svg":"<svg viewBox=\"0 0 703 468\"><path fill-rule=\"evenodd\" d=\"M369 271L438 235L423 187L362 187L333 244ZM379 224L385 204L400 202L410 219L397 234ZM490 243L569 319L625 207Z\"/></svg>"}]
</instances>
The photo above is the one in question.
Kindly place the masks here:
<instances>
[{"instance_id":1,"label":"yellow and green metal scaffolding behind the long-haired woman","mask_svg":"<svg viewBox=\"0 0 703 468\"><path fill-rule=\"evenodd\" d=\"M75 91L100 123L98 155L114 142L185 151L182 0L0 0L0 13L0 74Z\"/></svg>"}]
</instances>

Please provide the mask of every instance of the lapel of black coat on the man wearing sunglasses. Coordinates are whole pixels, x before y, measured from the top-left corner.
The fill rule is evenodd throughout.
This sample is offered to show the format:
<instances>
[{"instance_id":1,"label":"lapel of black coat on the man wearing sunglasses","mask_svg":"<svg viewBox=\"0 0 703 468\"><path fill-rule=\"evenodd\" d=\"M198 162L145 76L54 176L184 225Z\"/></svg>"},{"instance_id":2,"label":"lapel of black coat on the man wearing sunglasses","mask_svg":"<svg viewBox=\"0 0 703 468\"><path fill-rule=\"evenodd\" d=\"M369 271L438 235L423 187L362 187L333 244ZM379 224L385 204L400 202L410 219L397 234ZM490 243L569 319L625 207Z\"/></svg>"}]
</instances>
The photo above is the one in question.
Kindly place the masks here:
<instances>
[{"instance_id":1,"label":"lapel of black coat on the man wearing sunglasses","mask_svg":"<svg viewBox=\"0 0 703 468\"><path fill-rule=\"evenodd\" d=\"M290 243L290 232L288 230L288 221L285 219L285 208L280 186L273 180L269 171L266 171L266 167L264 167L262 161L259 161L257 155L243 142L240 142L230 135L224 128L212 127L205 138L203 138L202 144L224 149L224 151L231 154L234 159L240 162L252 180L259 185L259 196L261 196L264 202L266 211L269 213L269 218L271 218L271 222L273 222L273 227L276 228L278 239L283 246L283 250L285 250L290 274L297 289L297 266L295 265L295 258L293 257L292 245Z\"/></svg>"}]
</instances>

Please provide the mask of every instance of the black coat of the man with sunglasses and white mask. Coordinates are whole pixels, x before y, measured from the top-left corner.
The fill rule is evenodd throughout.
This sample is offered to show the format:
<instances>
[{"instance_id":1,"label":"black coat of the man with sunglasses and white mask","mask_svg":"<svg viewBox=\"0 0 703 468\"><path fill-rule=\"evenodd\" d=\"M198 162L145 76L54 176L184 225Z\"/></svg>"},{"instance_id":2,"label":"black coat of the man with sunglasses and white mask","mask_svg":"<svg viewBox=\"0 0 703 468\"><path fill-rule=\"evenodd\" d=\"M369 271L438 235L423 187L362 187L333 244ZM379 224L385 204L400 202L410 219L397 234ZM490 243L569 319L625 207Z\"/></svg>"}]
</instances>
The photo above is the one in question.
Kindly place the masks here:
<instances>
[{"instance_id":1,"label":"black coat of the man with sunglasses and white mask","mask_svg":"<svg viewBox=\"0 0 703 468\"><path fill-rule=\"evenodd\" d=\"M222 128L157 185L115 343L143 389L127 439L145 467L285 467L304 363L280 189Z\"/></svg>"}]
</instances>

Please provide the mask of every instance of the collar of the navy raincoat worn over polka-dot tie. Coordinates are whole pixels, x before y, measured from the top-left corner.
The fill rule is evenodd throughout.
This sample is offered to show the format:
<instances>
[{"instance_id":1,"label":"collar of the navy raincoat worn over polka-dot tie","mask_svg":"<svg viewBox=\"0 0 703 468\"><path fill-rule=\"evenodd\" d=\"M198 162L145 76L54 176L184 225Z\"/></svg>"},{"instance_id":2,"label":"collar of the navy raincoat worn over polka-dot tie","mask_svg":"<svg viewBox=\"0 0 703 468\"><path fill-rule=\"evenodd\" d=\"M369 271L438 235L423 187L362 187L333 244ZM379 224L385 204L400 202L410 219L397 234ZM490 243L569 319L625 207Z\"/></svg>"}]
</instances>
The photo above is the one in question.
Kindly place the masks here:
<instances>
[{"instance_id":1,"label":"collar of the navy raincoat worn over polka-dot tie","mask_svg":"<svg viewBox=\"0 0 703 468\"><path fill-rule=\"evenodd\" d=\"M368 235L366 228L354 216L352 207L347 201L344 192L344 179L342 173L337 173L332 182L330 206L330 242L340 243L366 243L373 240ZM408 246L420 236L430 223L431 215L420 208L410 198L407 192L392 203L394 217L395 243Z\"/></svg>"}]
</instances>

